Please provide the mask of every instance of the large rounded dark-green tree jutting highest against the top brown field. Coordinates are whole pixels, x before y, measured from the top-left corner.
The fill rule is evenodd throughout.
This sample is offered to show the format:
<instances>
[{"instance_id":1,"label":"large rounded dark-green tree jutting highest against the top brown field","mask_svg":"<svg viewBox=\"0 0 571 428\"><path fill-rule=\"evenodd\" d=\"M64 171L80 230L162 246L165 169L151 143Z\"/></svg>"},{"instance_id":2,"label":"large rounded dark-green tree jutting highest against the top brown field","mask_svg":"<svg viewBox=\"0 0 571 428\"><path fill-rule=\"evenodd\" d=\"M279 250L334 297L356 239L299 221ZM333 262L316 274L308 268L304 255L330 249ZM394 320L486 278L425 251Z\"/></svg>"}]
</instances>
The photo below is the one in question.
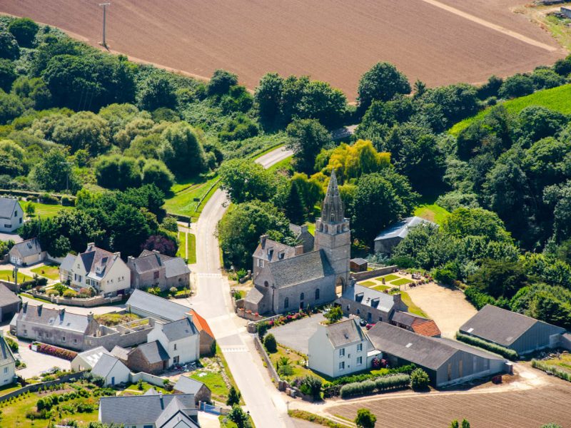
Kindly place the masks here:
<instances>
[{"instance_id":1,"label":"large rounded dark-green tree jutting highest against the top brown field","mask_svg":"<svg viewBox=\"0 0 571 428\"><path fill-rule=\"evenodd\" d=\"M360 78L359 110L365 113L373 101L389 101L398 93L410 93L410 83L391 63L376 63Z\"/></svg>"}]
</instances>

